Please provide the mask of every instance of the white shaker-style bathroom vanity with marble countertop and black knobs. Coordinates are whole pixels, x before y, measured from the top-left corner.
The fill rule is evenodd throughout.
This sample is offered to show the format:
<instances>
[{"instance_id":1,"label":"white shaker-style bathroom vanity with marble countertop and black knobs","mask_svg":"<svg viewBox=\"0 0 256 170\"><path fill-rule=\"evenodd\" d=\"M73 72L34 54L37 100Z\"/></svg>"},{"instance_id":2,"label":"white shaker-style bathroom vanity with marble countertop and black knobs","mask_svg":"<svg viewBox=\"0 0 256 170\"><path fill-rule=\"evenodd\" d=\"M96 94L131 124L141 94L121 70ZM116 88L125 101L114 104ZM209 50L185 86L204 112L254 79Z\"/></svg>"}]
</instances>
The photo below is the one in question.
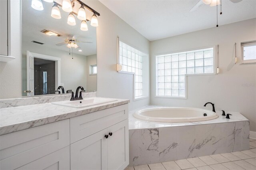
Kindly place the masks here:
<instances>
[{"instance_id":1,"label":"white shaker-style bathroom vanity with marble countertop and black knobs","mask_svg":"<svg viewBox=\"0 0 256 170\"><path fill-rule=\"evenodd\" d=\"M51 103L1 109L0 169L126 168L128 102L116 99L80 109Z\"/></svg>"}]
</instances>

